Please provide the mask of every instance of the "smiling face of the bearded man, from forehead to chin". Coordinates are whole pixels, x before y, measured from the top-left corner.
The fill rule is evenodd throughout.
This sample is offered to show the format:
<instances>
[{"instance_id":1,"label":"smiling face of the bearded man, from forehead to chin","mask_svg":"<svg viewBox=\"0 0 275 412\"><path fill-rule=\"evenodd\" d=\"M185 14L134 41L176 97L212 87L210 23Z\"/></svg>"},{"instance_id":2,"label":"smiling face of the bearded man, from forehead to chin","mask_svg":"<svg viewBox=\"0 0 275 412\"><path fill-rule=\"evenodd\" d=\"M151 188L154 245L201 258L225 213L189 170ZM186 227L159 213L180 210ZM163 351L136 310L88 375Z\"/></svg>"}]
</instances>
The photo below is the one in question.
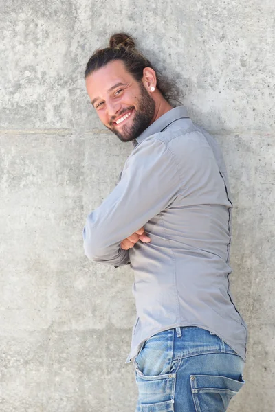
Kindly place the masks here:
<instances>
[{"instance_id":1,"label":"smiling face of the bearded man, from forehead to chin","mask_svg":"<svg viewBox=\"0 0 275 412\"><path fill-rule=\"evenodd\" d=\"M101 122L121 141L135 139L151 124L155 101L122 60L91 73L86 87Z\"/></svg>"}]
</instances>

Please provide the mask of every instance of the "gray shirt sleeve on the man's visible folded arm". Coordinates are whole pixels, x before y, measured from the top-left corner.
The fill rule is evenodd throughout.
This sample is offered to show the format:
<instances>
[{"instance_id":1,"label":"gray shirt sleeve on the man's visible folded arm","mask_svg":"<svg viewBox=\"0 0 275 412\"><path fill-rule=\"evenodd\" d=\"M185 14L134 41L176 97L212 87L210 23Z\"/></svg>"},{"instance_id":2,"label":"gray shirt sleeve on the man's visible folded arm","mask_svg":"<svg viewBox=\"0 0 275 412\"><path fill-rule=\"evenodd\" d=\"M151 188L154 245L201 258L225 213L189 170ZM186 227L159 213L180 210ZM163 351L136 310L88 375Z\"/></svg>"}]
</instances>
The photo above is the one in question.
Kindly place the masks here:
<instances>
[{"instance_id":1,"label":"gray shirt sleeve on the man's visible folded arm","mask_svg":"<svg viewBox=\"0 0 275 412\"><path fill-rule=\"evenodd\" d=\"M155 138L142 141L127 159L113 192L87 216L85 255L115 266L129 263L129 252L120 242L166 209L179 187L177 165L166 144Z\"/></svg>"}]
</instances>

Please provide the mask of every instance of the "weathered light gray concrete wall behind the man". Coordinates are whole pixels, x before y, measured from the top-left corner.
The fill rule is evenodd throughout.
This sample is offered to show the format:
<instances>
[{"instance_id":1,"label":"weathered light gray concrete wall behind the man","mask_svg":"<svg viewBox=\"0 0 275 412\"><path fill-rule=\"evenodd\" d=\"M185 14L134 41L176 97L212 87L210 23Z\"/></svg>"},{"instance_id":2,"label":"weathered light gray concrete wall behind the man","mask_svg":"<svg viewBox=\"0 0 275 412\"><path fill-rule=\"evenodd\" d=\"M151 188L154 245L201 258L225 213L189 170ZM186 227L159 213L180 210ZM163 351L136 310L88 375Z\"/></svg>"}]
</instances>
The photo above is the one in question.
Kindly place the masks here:
<instances>
[{"instance_id":1,"label":"weathered light gray concrete wall behind the man","mask_svg":"<svg viewBox=\"0 0 275 412\"><path fill-rule=\"evenodd\" d=\"M129 267L83 255L131 144L83 72L125 30L212 133L234 196L232 290L250 330L231 412L275 411L274 0L0 1L0 411L134 411Z\"/></svg>"}]
</instances>

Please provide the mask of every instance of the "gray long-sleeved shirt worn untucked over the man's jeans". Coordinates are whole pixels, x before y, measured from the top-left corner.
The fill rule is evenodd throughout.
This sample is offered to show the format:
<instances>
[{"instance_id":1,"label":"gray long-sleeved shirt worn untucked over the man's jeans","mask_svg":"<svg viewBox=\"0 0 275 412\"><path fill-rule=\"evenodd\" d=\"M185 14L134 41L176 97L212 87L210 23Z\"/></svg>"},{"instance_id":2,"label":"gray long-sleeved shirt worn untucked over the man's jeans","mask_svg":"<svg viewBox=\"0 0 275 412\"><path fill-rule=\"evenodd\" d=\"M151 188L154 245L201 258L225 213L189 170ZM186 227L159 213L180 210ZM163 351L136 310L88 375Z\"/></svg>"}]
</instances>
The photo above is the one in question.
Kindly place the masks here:
<instances>
[{"instance_id":1,"label":"gray long-sleeved shirt worn untucked over the man's jeans","mask_svg":"<svg viewBox=\"0 0 275 412\"><path fill-rule=\"evenodd\" d=\"M183 106L159 117L126 160L121 179L87 217L85 254L135 274L131 352L158 332L195 325L243 359L247 328L230 295L230 190L219 146ZM150 243L120 242L145 226Z\"/></svg>"}]
</instances>

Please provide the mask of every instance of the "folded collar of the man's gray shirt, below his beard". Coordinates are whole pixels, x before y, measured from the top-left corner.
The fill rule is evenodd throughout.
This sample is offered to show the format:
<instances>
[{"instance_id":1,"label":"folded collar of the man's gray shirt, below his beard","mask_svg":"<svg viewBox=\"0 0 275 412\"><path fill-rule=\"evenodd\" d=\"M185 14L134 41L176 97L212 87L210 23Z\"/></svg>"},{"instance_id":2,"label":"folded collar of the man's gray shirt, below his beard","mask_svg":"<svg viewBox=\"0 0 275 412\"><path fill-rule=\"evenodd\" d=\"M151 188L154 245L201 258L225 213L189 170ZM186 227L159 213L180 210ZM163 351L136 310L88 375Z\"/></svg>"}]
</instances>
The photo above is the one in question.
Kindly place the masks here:
<instances>
[{"instance_id":1,"label":"folded collar of the man's gray shirt, below his beard","mask_svg":"<svg viewBox=\"0 0 275 412\"><path fill-rule=\"evenodd\" d=\"M169 126L170 123L175 122L177 119L181 119L184 117L188 117L186 108L184 106L178 106L175 108L172 108L168 112L166 112L164 115L160 116L155 122L153 122L148 128L142 132L142 134L137 137L136 139L133 139L133 146L137 146L140 144L146 137L149 137L151 135L155 135L155 133L161 132Z\"/></svg>"}]
</instances>

